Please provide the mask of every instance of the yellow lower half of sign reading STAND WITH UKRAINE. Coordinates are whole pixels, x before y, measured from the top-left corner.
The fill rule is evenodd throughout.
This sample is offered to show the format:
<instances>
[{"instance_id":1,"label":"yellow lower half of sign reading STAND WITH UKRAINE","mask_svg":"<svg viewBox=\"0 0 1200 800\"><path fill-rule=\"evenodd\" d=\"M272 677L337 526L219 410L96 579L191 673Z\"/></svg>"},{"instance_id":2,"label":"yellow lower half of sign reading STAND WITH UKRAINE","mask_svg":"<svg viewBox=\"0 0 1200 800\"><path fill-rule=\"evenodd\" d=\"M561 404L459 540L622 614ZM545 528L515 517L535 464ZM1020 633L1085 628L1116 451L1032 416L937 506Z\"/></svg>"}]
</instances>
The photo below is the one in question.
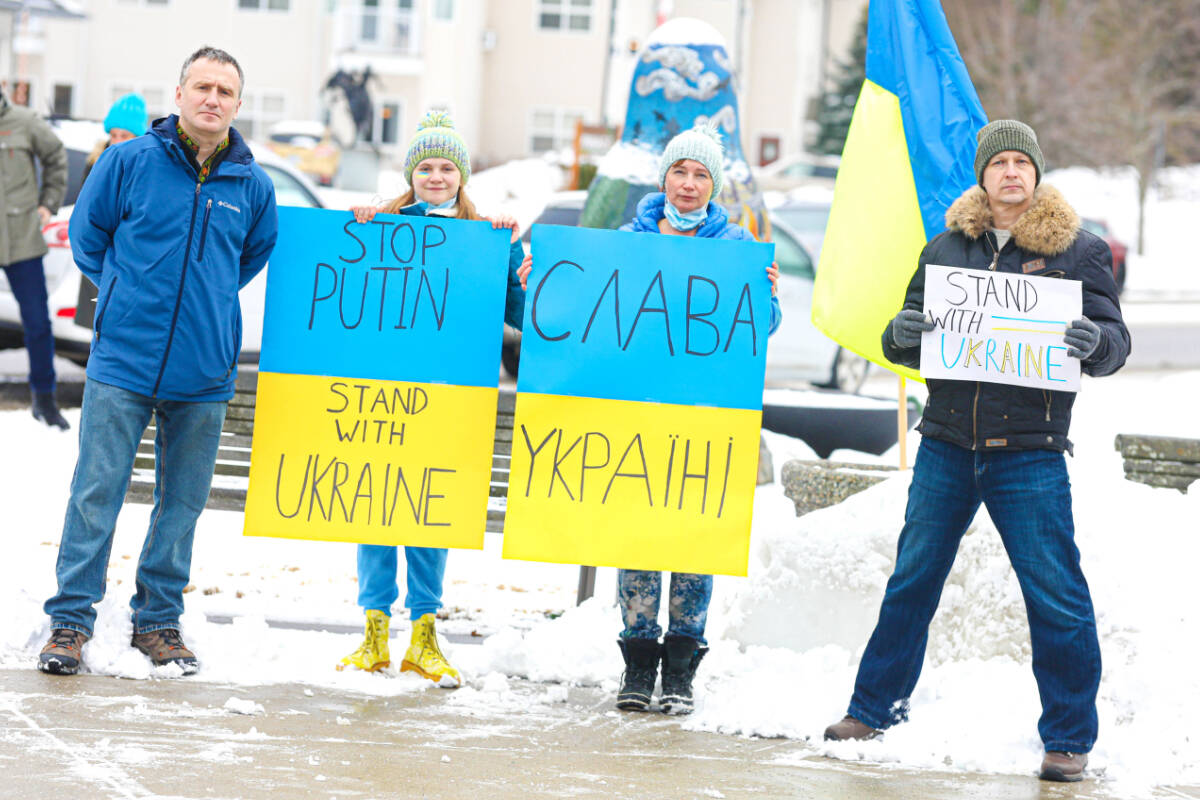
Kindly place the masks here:
<instances>
[{"instance_id":1,"label":"yellow lower half of sign reading STAND WITH UKRAINE","mask_svg":"<svg viewBox=\"0 0 1200 800\"><path fill-rule=\"evenodd\" d=\"M497 395L259 373L245 534L481 549Z\"/></svg>"}]
</instances>

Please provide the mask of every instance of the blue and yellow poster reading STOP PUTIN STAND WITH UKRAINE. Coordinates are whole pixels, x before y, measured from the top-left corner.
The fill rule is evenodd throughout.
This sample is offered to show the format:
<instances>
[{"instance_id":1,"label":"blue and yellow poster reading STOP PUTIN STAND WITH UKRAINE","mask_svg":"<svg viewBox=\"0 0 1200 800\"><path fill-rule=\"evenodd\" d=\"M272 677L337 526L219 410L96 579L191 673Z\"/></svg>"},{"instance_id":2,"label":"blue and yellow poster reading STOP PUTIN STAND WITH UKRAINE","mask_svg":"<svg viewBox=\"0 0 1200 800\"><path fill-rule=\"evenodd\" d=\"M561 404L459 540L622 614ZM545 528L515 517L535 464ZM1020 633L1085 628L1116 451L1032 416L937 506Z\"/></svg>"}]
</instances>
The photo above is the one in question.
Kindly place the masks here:
<instances>
[{"instance_id":1,"label":"blue and yellow poster reading STOP PUTIN STAND WITH UKRAINE","mask_svg":"<svg viewBox=\"0 0 1200 800\"><path fill-rule=\"evenodd\" d=\"M280 207L247 536L482 547L508 240Z\"/></svg>"}]
</instances>

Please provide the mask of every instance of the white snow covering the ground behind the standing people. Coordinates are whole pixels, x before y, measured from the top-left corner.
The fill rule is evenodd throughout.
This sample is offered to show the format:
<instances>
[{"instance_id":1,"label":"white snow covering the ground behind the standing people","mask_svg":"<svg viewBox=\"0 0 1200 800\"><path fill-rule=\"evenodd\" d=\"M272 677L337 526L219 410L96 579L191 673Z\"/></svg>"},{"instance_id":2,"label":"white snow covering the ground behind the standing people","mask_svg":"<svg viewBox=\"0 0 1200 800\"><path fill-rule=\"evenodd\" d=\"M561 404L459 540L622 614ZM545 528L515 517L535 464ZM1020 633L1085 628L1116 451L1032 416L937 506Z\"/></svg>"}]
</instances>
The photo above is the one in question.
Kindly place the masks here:
<instances>
[{"instance_id":1,"label":"white snow covering the ground behind the standing people","mask_svg":"<svg viewBox=\"0 0 1200 800\"><path fill-rule=\"evenodd\" d=\"M1086 379L1076 403L1076 451L1068 462L1104 654L1092 763L1104 776L1102 786L1118 796L1162 783L1200 783L1200 746L1192 739L1200 682L1186 656L1200 625L1193 579L1200 489L1184 495L1128 482L1112 449L1122 432L1200 437L1196 396L1200 372L1128 373ZM78 411L68 417L78 422ZM22 453L0 467L8 498L0 667L29 669L47 636L41 604L54 591L76 444L72 434L35 426L28 411L0 413L0 432L6 451ZM803 443L778 434L768 440L776 470L788 456L811 456ZM913 434L911 447L917 440ZM898 474L799 519L778 483L758 489L750 577L716 579L712 651L686 727L809 738L836 758L905 768L1025 775L1036 766L1039 704L1024 607L985 512L965 537L947 583L912 721L878 742L821 742L824 726L845 711L878 610L907 482L907 473ZM146 518L144 506L121 516L108 597L86 648L95 673L174 676L128 646L127 601ZM472 705L503 706L508 676L616 688L622 666L613 571L600 571L596 597L578 608L576 578L571 566L502 560L494 535L482 552L451 555L442 630L491 633L482 646L448 645L470 676L469 691L456 699L466 714ZM370 694L431 687L408 675L336 672L338 657L358 644L356 633L268 626L266 620L358 625L353 546L246 539L240 515L209 511L197 531L193 585L184 626L204 670L188 680L296 681ZM235 621L214 624L205 614Z\"/></svg>"}]
</instances>

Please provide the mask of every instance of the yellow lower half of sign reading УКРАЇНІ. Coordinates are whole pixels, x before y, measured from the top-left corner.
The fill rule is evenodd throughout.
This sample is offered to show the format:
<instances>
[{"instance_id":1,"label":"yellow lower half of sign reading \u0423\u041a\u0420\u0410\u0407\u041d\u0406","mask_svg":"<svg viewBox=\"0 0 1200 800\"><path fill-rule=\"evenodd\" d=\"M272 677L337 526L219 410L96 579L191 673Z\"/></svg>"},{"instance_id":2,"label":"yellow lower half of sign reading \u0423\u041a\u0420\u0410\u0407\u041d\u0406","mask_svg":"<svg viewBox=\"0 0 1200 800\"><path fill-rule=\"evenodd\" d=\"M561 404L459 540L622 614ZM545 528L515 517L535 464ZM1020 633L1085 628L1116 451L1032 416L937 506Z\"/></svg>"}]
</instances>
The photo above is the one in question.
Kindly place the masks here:
<instances>
[{"instance_id":1,"label":"yellow lower half of sign reading \u0423\u041a\u0420\u0410\u0407\u041d\u0406","mask_svg":"<svg viewBox=\"0 0 1200 800\"><path fill-rule=\"evenodd\" d=\"M504 558L744 576L761 422L518 393Z\"/></svg>"}]
</instances>

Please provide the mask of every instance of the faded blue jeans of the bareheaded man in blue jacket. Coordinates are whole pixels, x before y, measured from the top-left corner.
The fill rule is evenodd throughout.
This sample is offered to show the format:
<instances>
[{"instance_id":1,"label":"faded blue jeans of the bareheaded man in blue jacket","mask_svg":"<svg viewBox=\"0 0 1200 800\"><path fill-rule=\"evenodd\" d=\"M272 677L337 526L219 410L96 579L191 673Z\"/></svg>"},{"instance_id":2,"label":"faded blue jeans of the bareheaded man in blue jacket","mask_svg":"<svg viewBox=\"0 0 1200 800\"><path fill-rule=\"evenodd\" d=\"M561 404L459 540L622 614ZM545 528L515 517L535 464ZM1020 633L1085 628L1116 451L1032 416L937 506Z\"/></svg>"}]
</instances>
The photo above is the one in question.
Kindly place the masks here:
<instances>
[{"instance_id":1,"label":"faded blue jeans of the bareheaded man in blue jacket","mask_svg":"<svg viewBox=\"0 0 1200 800\"><path fill-rule=\"evenodd\" d=\"M91 636L92 606L104 596L116 517L151 413L157 431L154 509L131 602L133 632L179 627L192 537L209 499L226 403L155 399L91 379L84 385L79 459L55 567L59 591L44 607L52 627Z\"/></svg>"}]
</instances>

